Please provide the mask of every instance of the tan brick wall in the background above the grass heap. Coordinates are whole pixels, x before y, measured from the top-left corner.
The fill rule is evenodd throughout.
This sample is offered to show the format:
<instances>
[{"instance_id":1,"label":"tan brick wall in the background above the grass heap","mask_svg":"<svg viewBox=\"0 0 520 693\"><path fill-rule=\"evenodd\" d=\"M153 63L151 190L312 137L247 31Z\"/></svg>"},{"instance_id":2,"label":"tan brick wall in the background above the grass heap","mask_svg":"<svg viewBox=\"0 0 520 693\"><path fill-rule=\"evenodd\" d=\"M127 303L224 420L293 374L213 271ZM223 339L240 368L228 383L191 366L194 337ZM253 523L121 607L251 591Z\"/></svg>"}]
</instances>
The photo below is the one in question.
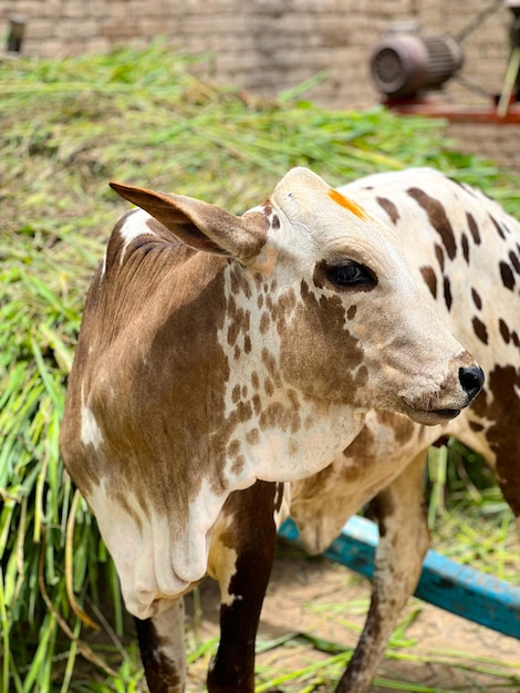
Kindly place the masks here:
<instances>
[{"instance_id":1,"label":"tan brick wall in the background above the grass heap","mask_svg":"<svg viewBox=\"0 0 520 693\"><path fill-rule=\"evenodd\" d=\"M368 60L391 22L414 18L425 35L456 37L489 6L490 0L0 0L0 37L12 12L28 18L29 55L103 51L167 34L188 52L210 52L208 76L217 82L271 96L323 71L326 77L305 96L350 108L379 99ZM451 81L451 101L483 104L489 97L480 92L500 92L511 17L498 2L464 40L461 75L480 91Z\"/></svg>"}]
</instances>

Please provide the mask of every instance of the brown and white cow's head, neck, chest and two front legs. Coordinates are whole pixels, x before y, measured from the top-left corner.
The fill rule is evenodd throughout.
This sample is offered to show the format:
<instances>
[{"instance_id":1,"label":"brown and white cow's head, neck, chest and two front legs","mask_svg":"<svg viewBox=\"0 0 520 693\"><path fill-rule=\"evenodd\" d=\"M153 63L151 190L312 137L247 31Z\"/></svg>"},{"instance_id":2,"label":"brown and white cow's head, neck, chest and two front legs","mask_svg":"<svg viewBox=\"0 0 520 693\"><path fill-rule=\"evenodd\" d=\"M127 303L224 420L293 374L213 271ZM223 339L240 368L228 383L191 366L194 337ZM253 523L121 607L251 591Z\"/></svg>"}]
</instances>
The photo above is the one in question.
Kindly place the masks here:
<instances>
[{"instance_id":1,"label":"brown and white cow's head, neck, chest and two front legs","mask_svg":"<svg viewBox=\"0 0 520 693\"><path fill-rule=\"evenodd\" d=\"M210 690L252 691L272 482L326 467L371 407L453 418L482 373L389 227L312 172L242 217L113 187L142 209L116 225L89 291L63 458L138 619L150 690L184 687L181 594L209 571L226 633Z\"/></svg>"}]
</instances>

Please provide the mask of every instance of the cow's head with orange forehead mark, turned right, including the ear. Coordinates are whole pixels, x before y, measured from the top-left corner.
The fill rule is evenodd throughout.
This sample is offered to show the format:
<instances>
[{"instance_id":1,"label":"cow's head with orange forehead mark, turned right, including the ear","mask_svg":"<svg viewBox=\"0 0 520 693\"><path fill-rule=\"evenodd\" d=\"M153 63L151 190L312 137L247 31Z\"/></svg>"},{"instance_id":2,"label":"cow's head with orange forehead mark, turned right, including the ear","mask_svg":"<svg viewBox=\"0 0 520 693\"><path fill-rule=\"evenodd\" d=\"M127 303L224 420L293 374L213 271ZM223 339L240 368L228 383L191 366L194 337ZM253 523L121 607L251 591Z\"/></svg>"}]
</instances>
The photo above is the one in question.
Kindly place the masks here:
<instances>
[{"instance_id":1,"label":"cow's head with orange forehead mark, turned right, including the ear","mask_svg":"<svg viewBox=\"0 0 520 693\"><path fill-rule=\"evenodd\" d=\"M263 316L270 375L284 387L428 424L480 391L480 369L422 298L393 231L309 169L290 170L241 217L112 185L185 244L236 260L233 280Z\"/></svg>"}]
</instances>

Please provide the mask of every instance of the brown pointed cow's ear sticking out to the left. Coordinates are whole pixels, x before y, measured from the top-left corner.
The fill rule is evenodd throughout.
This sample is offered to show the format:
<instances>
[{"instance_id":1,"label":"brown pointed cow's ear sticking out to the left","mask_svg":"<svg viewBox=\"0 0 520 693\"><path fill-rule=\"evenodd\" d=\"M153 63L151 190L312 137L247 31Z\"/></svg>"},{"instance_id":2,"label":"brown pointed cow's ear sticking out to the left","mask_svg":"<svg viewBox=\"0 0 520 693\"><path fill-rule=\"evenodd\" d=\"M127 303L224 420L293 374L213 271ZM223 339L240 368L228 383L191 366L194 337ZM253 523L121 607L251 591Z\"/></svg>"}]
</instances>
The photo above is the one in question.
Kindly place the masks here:
<instances>
[{"instance_id":1,"label":"brown pointed cow's ear sticking out to the left","mask_svg":"<svg viewBox=\"0 0 520 693\"><path fill-rule=\"evenodd\" d=\"M236 257L248 262L258 255L267 240L266 221L260 215L238 217L193 197L168 195L121 183L110 185L196 250Z\"/></svg>"}]
</instances>

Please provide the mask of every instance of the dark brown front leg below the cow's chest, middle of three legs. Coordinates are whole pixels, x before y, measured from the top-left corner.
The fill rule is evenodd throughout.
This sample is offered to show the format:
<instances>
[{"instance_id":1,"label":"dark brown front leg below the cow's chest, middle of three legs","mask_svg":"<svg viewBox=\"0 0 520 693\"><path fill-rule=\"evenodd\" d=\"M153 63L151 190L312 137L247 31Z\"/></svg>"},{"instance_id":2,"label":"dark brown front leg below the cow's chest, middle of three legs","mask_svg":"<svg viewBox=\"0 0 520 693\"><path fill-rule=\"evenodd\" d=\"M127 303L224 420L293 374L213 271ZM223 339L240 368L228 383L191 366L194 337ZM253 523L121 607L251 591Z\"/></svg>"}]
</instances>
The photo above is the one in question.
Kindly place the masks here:
<instances>
[{"instance_id":1,"label":"dark brown front leg below the cow's chest, middle of three legs","mask_svg":"<svg viewBox=\"0 0 520 693\"><path fill-rule=\"evenodd\" d=\"M210 572L219 580L221 607L210 693L254 691L254 641L277 544L275 490L275 484L257 482L232 494L211 537Z\"/></svg>"}]
</instances>

